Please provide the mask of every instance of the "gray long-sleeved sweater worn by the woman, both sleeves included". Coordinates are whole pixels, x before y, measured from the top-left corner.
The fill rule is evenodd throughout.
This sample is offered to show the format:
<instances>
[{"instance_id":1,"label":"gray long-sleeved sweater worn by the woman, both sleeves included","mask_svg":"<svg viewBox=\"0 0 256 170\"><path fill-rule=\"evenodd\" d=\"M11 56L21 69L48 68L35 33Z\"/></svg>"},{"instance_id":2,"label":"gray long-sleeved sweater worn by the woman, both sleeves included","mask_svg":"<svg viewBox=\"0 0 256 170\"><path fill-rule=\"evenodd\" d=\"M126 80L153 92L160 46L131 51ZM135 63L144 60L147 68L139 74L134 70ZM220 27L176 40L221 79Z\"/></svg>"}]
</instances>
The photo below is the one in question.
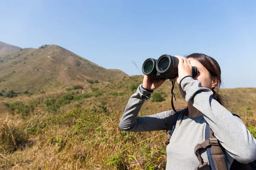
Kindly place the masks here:
<instances>
[{"instance_id":1,"label":"gray long-sleeved sweater worn by the woman, both sleeves included","mask_svg":"<svg viewBox=\"0 0 256 170\"><path fill-rule=\"evenodd\" d=\"M212 91L203 88L201 82L186 77L181 82L181 88L186 92L186 102L192 101L193 106L201 111L201 116L184 116L180 124L177 120L176 128L170 143L166 147L166 170L194 170L199 164L194 154L195 145L205 141L204 132L206 123L225 148L228 168L234 159L248 163L256 159L256 139L247 130L244 122L212 98ZM163 111L150 116L140 116L138 113L145 99L149 100L151 93L139 85L125 108L119 122L119 128L126 131L153 131L166 130L167 117L171 111ZM208 162L206 151L201 154L204 162ZM202 170L209 170L205 166Z\"/></svg>"}]
</instances>

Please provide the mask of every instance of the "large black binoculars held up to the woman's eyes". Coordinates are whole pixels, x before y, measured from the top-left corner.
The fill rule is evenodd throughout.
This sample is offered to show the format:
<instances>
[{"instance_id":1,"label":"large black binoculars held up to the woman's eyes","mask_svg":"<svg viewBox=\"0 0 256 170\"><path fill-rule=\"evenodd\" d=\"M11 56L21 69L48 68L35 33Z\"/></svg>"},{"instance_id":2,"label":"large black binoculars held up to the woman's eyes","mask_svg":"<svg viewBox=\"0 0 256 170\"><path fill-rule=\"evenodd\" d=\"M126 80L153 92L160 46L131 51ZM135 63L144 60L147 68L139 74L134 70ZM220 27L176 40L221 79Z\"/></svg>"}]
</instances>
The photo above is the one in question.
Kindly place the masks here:
<instances>
[{"instance_id":1,"label":"large black binoculars held up to the woman's eyes","mask_svg":"<svg viewBox=\"0 0 256 170\"><path fill-rule=\"evenodd\" d=\"M171 79L178 76L179 59L163 54L158 59L148 58L142 65L143 74L153 79ZM192 77L198 74L198 68L192 67Z\"/></svg>"}]
</instances>

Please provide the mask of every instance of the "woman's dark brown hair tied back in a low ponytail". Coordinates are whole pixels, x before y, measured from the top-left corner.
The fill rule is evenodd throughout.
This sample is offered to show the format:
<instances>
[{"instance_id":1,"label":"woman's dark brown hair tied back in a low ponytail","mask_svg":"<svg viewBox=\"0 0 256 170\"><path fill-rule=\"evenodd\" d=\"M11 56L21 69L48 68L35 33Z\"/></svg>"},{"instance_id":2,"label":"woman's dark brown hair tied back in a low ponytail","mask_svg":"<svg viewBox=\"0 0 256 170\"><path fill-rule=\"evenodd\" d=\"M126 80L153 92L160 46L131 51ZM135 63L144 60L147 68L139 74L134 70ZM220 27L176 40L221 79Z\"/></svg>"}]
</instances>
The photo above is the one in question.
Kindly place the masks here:
<instances>
[{"instance_id":1,"label":"woman's dark brown hair tied back in a low ponytail","mask_svg":"<svg viewBox=\"0 0 256 170\"><path fill-rule=\"evenodd\" d=\"M201 53L193 53L193 54L186 56L186 58L193 58L193 59L198 60L198 62L200 62L202 65L204 65L204 67L209 71L210 77L212 79L217 77L218 83L215 88L211 89L213 92L212 98L215 99L217 102L219 102L222 106L224 106L226 108L227 107L227 99L224 96L221 96L220 94L218 94L218 91L222 85L221 68L218 65L218 62L215 59L213 59L212 57L209 57L209 56L207 56L205 54L201 54ZM183 118L183 116L182 116L182 118Z\"/></svg>"}]
</instances>

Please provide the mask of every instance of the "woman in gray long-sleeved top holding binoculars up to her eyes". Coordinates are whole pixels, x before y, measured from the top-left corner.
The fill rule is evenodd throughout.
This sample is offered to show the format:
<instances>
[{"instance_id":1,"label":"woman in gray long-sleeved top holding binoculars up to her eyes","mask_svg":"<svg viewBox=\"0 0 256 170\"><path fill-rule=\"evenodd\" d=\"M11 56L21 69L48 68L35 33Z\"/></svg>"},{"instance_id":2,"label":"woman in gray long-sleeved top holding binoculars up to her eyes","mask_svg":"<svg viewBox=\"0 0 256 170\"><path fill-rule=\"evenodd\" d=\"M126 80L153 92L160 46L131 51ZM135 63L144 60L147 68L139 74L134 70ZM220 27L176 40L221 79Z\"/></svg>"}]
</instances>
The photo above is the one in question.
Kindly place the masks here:
<instances>
[{"instance_id":1,"label":"woman in gray long-sleeved top holding binoculars up to her eyes","mask_svg":"<svg viewBox=\"0 0 256 170\"><path fill-rule=\"evenodd\" d=\"M221 85L221 69L215 59L205 54L191 54L179 59L178 77L170 79L177 82L182 97L188 102L187 112L180 115L172 138L166 147L166 170L194 170L198 165L194 148L205 141L206 124L224 147L227 166L234 159L247 163L256 159L256 139L251 136L244 122L233 116L223 105L218 95ZM192 66L198 68L198 74L192 77ZM137 117L143 102L150 99L155 89L165 80L144 76L143 84L131 96L119 128L126 131L166 130L167 117L172 111L163 111L150 116ZM216 91L214 90L216 89ZM206 151L201 153L204 162L209 162ZM209 170L209 165L201 168Z\"/></svg>"}]
</instances>

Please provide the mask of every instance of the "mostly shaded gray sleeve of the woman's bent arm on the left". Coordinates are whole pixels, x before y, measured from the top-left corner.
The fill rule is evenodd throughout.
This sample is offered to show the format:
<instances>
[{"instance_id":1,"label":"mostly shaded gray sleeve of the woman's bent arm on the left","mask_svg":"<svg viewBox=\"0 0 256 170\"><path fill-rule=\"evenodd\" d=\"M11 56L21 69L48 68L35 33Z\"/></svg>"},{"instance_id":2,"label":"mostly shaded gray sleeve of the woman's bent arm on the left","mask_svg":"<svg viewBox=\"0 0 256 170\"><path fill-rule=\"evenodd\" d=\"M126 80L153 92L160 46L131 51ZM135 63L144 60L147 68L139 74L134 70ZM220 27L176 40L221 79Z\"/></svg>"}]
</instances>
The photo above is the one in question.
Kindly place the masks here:
<instances>
[{"instance_id":1,"label":"mostly shaded gray sleeve of the woman's bent arm on the left","mask_svg":"<svg viewBox=\"0 0 256 170\"><path fill-rule=\"evenodd\" d=\"M167 117L172 111L163 111L154 115L138 117L140 108L145 100L149 100L152 91L148 91L142 87L137 88L125 108L122 118L119 122L119 128L125 131L154 131L167 129Z\"/></svg>"}]
</instances>

